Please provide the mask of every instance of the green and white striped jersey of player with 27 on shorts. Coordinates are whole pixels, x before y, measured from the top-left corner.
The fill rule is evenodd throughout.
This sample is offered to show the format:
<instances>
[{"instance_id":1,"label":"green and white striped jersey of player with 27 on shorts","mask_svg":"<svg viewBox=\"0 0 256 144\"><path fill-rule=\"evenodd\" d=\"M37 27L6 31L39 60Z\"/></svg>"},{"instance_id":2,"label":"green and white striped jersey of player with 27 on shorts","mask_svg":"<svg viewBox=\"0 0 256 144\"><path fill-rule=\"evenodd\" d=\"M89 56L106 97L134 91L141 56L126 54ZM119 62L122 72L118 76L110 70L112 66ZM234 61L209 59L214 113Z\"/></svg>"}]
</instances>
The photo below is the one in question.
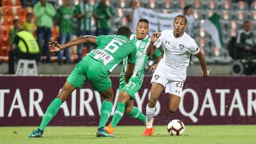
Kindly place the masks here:
<instances>
[{"instance_id":1,"label":"green and white striped jersey of player with 27 on shorts","mask_svg":"<svg viewBox=\"0 0 256 144\"><path fill-rule=\"evenodd\" d=\"M144 76L144 68L149 58L147 55L147 47L150 43L150 38L146 36L142 40L137 40L136 35L132 34L130 39L132 43L134 43L137 47L136 61L135 61L132 77L138 77L140 78L140 81L142 81ZM153 56L158 58L161 55L162 55L162 52L159 49L157 49L157 51L154 53ZM122 73L120 77L124 76L126 65L127 65L127 58L125 58L123 61L123 68L122 68Z\"/></svg>"}]
</instances>

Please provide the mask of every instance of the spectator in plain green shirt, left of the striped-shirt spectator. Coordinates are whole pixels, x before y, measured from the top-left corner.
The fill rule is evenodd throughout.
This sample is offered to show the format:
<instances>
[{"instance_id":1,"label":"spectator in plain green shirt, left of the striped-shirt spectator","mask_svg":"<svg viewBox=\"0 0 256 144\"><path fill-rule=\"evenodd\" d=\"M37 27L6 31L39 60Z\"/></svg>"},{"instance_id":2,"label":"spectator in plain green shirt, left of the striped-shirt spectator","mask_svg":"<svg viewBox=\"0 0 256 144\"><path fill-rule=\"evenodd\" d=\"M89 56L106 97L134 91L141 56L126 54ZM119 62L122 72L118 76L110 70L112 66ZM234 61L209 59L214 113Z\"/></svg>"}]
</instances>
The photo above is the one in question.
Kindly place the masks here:
<instances>
[{"instance_id":1,"label":"spectator in plain green shirt, left of the striped-shirt spectator","mask_svg":"<svg viewBox=\"0 0 256 144\"><path fill-rule=\"evenodd\" d=\"M71 41L73 36L73 18L74 12L73 7L70 5L70 0L64 0L63 5L60 7L60 9L57 11L57 22L60 27L60 36L59 36L59 42L60 44L65 44L69 41ZM65 56L66 56L66 63L70 63L70 53L71 49L68 47L65 49ZM62 64L62 58L63 58L63 51L58 52L58 63L59 65Z\"/></svg>"}]
</instances>

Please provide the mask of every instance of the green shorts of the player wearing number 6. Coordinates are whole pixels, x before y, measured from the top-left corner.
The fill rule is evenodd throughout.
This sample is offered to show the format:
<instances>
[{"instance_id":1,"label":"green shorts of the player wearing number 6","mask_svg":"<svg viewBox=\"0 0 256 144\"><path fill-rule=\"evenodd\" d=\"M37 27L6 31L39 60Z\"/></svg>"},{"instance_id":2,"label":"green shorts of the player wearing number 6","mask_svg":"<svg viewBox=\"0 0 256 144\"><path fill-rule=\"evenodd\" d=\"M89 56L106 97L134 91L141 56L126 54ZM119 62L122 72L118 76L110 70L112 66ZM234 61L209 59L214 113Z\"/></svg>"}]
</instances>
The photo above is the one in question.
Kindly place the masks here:
<instances>
[{"instance_id":1,"label":"green shorts of the player wearing number 6","mask_svg":"<svg viewBox=\"0 0 256 144\"><path fill-rule=\"evenodd\" d=\"M76 88L81 88L89 80L93 90L97 92L106 91L111 86L109 72L102 62L86 56L77 63L76 68L68 76L67 81Z\"/></svg>"}]
</instances>

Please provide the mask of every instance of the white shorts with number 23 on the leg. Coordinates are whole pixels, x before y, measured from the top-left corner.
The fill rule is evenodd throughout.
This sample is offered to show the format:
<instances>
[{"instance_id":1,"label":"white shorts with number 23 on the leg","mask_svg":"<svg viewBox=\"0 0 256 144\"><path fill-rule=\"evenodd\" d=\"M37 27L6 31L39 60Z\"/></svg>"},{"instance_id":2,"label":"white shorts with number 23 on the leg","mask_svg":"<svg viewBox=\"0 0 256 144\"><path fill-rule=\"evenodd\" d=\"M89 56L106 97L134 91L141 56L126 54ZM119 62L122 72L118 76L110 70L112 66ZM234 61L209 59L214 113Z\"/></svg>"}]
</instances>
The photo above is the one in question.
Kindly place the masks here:
<instances>
[{"instance_id":1,"label":"white shorts with number 23 on the leg","mask_svg":"<svg viewBox=\"0 0 256 144\"><path fill-rule=\"evenodd\" d=\"M166 70L156 69L151 79L151 83L153 82L162 84L165 87L165 93L178 95L179 97L182 95L184 81L178 75L170 73Z\"/></svg>"}]
</instances>

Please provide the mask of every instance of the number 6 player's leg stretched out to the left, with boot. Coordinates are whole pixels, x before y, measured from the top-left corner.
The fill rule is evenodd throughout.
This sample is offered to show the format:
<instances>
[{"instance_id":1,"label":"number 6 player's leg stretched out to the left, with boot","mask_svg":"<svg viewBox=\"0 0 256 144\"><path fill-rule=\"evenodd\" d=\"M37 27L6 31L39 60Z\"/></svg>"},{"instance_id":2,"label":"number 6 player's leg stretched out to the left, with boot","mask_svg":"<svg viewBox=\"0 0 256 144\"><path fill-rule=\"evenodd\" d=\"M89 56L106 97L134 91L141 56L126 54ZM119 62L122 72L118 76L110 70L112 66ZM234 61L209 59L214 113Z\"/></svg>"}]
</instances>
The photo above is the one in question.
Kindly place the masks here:
<instances>
[{"instance_id":1,"label":"number 6 player's leg stretched out to the left, with boot","mask_svg":"<svg viewBox=\"0 0 256 144\"><path fill-rule=\"evenodd\" d=\"M60 93L57 95L57 98L55 98L50 106L47 108L43 118L42 122L39 126L39 128L35 131L33 131L31 134L29 134L29 138L39 138L42 137L42 134L44 132L45 127L49 124L51 119L58 113L60 106L62 102L66 101L69 95L76 89L73 85L69 84L67 81L63 85Z\"/></svg>"}]
</instances>

